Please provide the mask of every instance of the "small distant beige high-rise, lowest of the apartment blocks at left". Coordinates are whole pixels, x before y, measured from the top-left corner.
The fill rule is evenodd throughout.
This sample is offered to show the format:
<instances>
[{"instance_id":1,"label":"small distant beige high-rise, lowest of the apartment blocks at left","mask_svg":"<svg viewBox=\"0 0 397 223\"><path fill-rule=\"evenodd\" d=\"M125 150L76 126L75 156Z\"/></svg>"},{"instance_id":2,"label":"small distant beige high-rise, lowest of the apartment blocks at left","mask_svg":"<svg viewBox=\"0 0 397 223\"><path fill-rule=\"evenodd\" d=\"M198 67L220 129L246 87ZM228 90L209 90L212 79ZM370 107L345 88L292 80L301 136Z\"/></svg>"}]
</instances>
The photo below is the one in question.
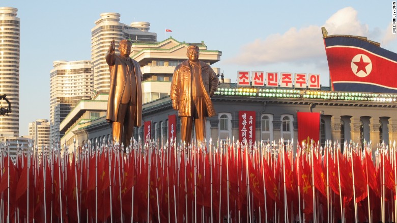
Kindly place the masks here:
<instances>
[{"instance_id":1,"label":"small distant beige high-rise, lowest of the apartment blocks at left","mask_svg":"<svg viewBox=\"0 0 397 223\"><path fill-rule=\"evenodd\" d=\"M49 122L48 119L38 119L29 123L29 136L32 137L33 146L37 146L38 152L41 154L42 148L49 150Z\"/></svg>"}]
</instances>

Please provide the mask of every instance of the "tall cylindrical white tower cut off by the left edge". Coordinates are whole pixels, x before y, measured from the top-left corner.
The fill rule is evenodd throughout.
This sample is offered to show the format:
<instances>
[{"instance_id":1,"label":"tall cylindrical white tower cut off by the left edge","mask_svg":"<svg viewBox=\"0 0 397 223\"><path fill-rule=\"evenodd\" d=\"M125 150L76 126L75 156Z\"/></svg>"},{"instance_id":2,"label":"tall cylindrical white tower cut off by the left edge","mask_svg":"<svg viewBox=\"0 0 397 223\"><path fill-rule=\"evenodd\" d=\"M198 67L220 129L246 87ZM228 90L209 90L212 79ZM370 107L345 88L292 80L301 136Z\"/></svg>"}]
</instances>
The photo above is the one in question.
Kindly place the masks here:
<instances>
[{"instance_id":1,"label":"tall cylindrical white tower cut off by the left edge","mask_svg":"<svg viewBox=\"0 0 397 223\"><path fill-rule=\"evenodd\" d=\"M0 135L19 135L19 36L20 19L16 8L0 7L0 95L7 95L12 112L0 116ZM1 107L8 108L5 100Z\"/></svg>"}]
</instances>

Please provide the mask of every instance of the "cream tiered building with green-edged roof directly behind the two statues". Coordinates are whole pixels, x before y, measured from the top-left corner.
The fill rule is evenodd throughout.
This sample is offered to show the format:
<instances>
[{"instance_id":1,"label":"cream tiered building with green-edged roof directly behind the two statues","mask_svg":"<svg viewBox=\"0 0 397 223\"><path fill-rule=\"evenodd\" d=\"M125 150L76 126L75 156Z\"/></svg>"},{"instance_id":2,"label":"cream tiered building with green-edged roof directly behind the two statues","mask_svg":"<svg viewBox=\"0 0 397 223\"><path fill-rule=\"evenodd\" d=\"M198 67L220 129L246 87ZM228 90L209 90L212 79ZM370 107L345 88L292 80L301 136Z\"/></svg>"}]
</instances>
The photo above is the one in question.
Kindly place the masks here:
<instances>
[{"instance_id":1,"label":"cream tiered building with green-edged roof directly behind the two statues","mask_svg":"<svg viewBox=\"0 0 397 223\"><path fill-rule=\"evenodd\" d=\"M222 52L209 50L204 41L186 43L170 37L161 42L137 41L132 43L131 58L136 60L142 71L142 102L147 103L169 95L171 80L175 67L187 60L186 50L189 45L200 48L200 60L212 65L220 61ZM220 69L212 67L219 74Z\"/></svg>"}]
</instances>

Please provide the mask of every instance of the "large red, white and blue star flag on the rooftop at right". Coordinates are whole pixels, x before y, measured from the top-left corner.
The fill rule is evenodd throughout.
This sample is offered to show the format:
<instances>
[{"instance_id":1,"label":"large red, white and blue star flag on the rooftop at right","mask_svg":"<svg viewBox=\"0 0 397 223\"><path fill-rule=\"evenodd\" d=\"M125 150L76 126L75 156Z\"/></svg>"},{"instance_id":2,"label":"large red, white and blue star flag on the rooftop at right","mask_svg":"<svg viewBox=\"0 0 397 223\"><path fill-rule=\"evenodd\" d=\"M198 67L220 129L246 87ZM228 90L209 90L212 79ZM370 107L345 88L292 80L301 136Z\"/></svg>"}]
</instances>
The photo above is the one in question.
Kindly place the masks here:
<instances>
[{"instance_id":1,"label":"large red, white and blue star flag on the rooftop at right","mask_svg":"<svg viewBox=\"0 0 397 223\"><path fill-rule=\"evenodd\" d=\"M397 93L397 54L353 36L324 39L334 91Z\"/></svg>"}]
</instances>

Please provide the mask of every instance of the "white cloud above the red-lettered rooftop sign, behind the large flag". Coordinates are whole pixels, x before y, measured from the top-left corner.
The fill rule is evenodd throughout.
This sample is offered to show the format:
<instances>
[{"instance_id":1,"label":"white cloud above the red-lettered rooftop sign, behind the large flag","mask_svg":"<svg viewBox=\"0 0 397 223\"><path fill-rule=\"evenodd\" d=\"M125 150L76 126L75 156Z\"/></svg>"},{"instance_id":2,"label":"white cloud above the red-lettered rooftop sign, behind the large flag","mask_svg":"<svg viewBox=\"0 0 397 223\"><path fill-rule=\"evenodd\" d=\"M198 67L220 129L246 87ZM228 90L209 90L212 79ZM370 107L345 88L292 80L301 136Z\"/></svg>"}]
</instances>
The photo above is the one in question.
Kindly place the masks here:
<instances>
[{"instance_id":1,"label":"white cloud above the red-lettered rooftop sign, behind the large flag","mask_svg":"<svg viewBox=\"0 0 397 223\"><path fill-rule=\"evenodd\" d=\"M328 35L368 35L368 26L360 23L357 11L352 7L337 11L323 26L326 27ZM257 39L241 47L238 54L224 62L249 66L276 63L327 66L321 27L317 25L301 29L292 27L283 34L271 34L266 39Z\"/></svg>"}]
</instances>

